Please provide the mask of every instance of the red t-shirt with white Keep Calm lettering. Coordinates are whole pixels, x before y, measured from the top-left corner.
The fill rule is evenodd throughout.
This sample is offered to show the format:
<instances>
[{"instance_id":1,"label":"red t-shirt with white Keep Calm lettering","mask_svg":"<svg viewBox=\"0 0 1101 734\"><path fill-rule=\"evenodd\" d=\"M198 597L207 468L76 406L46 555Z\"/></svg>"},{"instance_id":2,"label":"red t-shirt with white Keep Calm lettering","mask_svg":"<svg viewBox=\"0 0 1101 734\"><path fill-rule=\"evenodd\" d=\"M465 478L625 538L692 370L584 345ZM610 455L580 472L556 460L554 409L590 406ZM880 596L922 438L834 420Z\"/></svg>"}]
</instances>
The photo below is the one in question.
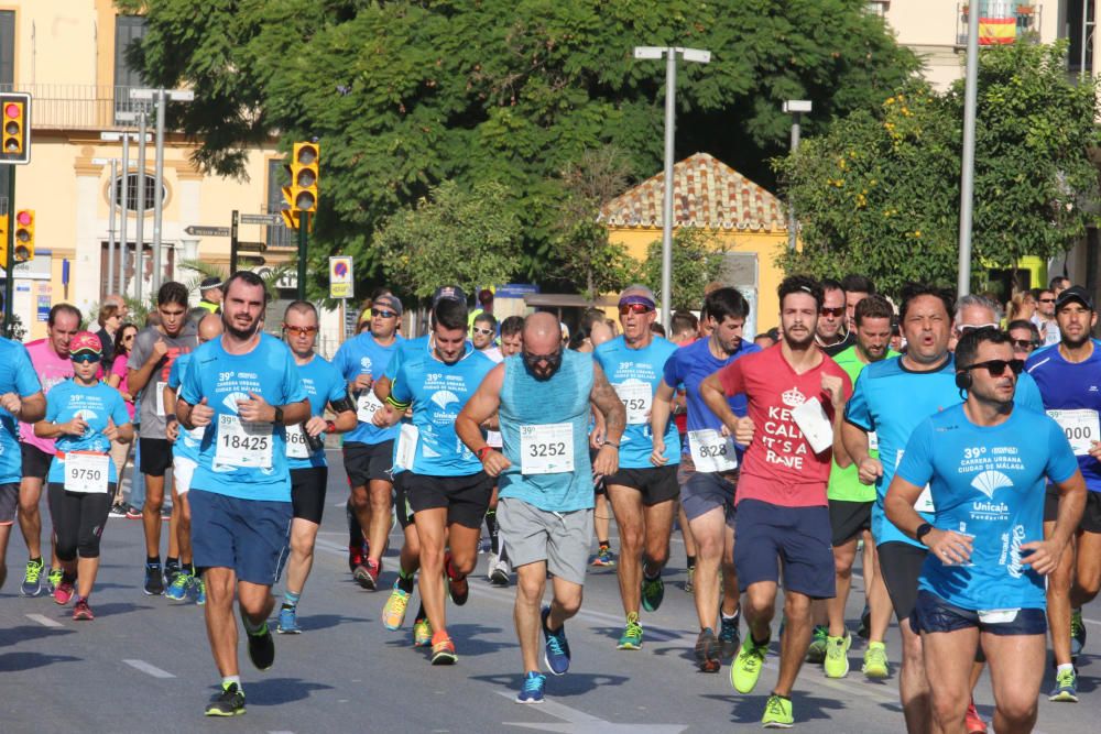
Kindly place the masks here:
<instances>
[{"instance_id":1,"label":"red t-shirt with white Keep Calm lettering","mask_svg":"<svg viewBox=\"0 0 1101 734\"><path fill-rule=\"evenodd\" d=\"M792 408L817 399L833 420L822 374L841 377L849 398L852 381L837 362L822 354L818 366L797 374L784 359L781 344L734 360L719 371L728 397L743 393L749 398L749 417L754 425L753 441L745 450L738 479L738 502L760 500L785 507L828 504L826 483L832 449L816 454L792 418Z\"/></svg>"}]
</instances>

